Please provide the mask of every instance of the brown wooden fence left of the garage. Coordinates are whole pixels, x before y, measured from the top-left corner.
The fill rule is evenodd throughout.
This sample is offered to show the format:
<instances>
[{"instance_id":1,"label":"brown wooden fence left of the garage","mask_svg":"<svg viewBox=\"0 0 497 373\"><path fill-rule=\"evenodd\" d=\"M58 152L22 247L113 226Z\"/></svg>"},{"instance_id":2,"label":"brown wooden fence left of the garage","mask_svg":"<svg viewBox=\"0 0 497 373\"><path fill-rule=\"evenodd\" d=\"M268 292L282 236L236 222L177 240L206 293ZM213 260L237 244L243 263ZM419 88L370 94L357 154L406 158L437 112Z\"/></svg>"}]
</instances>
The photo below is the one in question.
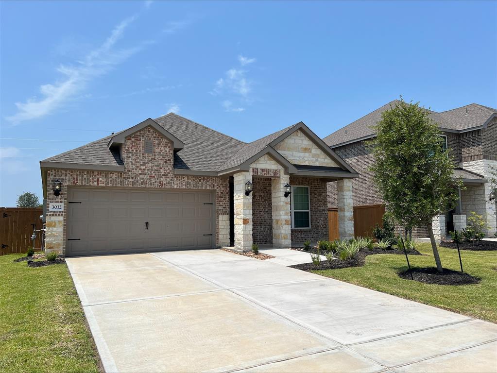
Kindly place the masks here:
<instances>
[{"instance_id":1,"label":"brown wooden fence left of the garage","mask_svg":"<svg viewBox=\"0 0 497 373\"><path fill-rule=\"evenodd\" d=\"M24 253L32 246L33 228L41 229L41 208L0 207L0 255ZM42 245L43 232L36 232L35 249Z\"/></svg>"}]
</instances>

